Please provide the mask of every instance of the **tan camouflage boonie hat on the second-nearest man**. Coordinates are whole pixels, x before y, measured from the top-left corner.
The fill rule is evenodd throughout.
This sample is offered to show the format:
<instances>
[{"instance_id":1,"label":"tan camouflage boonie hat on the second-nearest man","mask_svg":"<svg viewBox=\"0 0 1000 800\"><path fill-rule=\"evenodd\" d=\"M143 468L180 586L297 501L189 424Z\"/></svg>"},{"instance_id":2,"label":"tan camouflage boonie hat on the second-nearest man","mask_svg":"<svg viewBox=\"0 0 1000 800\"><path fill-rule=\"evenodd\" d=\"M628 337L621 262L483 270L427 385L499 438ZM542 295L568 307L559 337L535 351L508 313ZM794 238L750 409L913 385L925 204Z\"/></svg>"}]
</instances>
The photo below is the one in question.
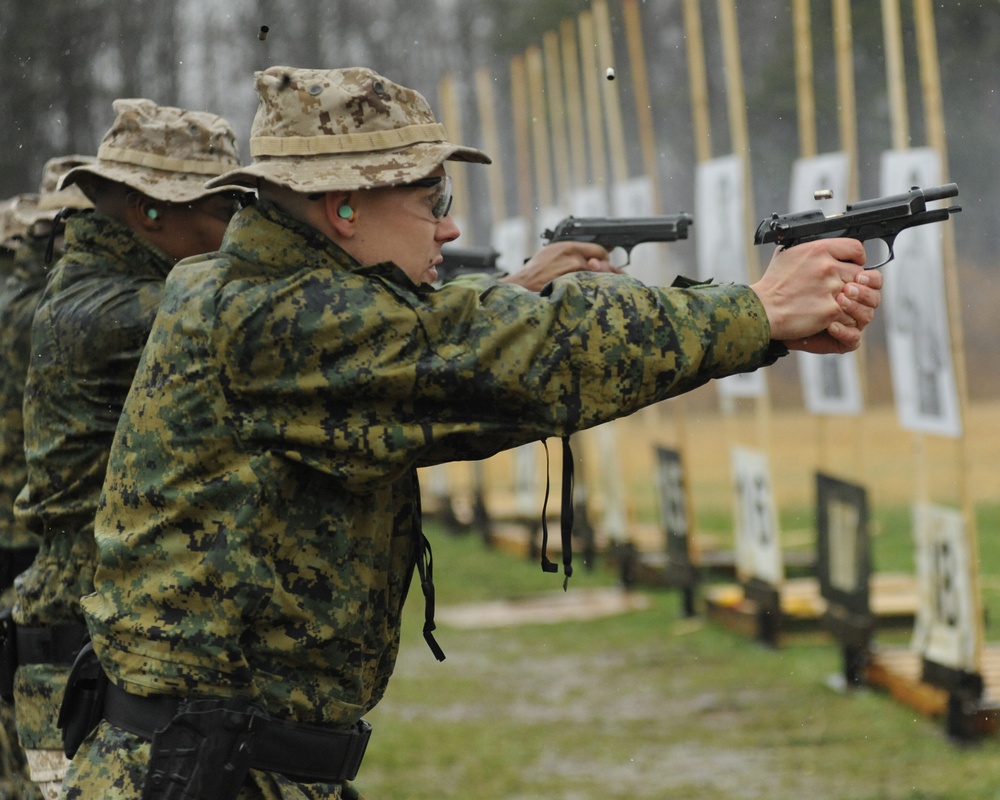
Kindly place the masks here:
<instances>
[{"instance_id":1,"label":"tan camouflage boonie hat on the second-nearest man","mask_svg":"<svg viewBox=\"0 0 1000 800\"><path fill-rule=\"evenodd\" d=\"M101 141L97 161L71 170L60 188L79 182L86 192L86 176L97 175L165 203L244 191L205 186L209 178L240 164L236 134L222 117L143 98L115 100L113 107L117 117Z\"/></svg>"}]
</instances>

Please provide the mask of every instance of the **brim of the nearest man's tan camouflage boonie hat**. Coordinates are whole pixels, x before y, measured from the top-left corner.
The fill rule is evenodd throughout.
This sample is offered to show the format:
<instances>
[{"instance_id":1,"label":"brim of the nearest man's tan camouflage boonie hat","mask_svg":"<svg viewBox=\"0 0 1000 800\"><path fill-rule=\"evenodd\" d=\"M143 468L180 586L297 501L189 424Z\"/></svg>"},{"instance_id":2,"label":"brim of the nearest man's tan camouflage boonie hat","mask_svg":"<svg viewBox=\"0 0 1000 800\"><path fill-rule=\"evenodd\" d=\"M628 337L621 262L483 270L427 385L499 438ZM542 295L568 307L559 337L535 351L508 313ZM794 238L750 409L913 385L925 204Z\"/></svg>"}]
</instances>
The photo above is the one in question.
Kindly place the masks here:
<instances>
[{"instance_id":1,"label":"brim of the nearest man's tan camouflage boonie hat","mask_svg":"<svg viewBox=\"0 0 1000 800\"><path fill-rule=\"evenodd\" d=\"M206 186L224 183L256 187L261 179L296 192L353 192L376 189L426 178L445 161L491 164L492 159L474 147L446 142L421 142L397 150L337 155L258 156Z\"/></svg>"}]
</instances>

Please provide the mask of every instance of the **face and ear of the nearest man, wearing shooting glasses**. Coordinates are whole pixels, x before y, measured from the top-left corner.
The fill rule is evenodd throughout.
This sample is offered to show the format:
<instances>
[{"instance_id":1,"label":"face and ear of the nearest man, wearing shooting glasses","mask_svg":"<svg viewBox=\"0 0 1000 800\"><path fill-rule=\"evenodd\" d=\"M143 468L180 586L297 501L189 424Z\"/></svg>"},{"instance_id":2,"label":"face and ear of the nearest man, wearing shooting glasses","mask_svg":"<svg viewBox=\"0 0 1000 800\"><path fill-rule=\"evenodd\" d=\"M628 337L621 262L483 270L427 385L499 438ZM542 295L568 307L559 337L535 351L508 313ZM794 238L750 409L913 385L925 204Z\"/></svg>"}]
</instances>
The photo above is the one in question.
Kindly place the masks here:
<instances>
[{"instance_id":1,"label":"face and ear of the nearest man, wearing shooting glasses","mask_svg":"<svg viewBox=\"0 0 1000 800\"><path fill-rule=\"evenodd\" d=\"M353 193L351 254L365 265L392 261L414 283L432 283L438 277L441 245L459 235L448 213L450 196L451 181L443 167L414 184Z\"/></svg>"}]
</instances>

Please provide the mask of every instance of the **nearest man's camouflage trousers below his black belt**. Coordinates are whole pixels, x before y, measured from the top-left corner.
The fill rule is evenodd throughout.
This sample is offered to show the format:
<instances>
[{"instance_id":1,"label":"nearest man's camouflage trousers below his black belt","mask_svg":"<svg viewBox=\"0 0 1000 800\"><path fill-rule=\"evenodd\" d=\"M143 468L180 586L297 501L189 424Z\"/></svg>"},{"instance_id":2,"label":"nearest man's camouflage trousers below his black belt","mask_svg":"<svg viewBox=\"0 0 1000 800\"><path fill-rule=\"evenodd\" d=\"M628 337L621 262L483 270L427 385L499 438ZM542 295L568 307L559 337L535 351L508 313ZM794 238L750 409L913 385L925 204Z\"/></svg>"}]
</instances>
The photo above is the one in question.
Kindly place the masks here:
<instances>
[{"instance_id":1,"label":"nearest man's camouflage trousers below his black belt","mask_svg":"<svg viewBox=\"0 0 1000 800\"><path fill-rule=\"evenodd\" d=\"M149 742L103 721L73 756L63 798L139 800L148 763ZM347 783L295 783L277 773L250 770L237 800L363 799Z\"/></svg>"}]
</instances>

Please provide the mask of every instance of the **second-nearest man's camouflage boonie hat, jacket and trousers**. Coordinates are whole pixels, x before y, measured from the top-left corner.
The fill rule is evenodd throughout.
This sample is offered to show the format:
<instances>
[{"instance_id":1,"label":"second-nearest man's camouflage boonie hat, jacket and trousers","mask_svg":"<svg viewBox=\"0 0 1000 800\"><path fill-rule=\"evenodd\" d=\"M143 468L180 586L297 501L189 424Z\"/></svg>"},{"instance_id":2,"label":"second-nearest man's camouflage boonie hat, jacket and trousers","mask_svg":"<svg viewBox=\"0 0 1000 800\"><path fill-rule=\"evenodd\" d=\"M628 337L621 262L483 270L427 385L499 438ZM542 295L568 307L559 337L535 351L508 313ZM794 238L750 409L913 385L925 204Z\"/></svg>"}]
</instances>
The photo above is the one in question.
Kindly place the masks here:
<instances>
[{"instance_id":1,"label":"second-nearest man's camouflage boonie hat, jacket and trousers","mask_svg":"<svg viewBox=\"0 0 1000 800\"><path fill-rule=\"evenodd\" d=\"M232 187L207 190L204 182L239 164L235 134L214 114L144 99L114 107L98 158L63 177L64 190L79 184L97 209L67 224L65 254L34 316L25 386L27 480L15 512L23 528L40 532L41 544L16 582L14 620L19 645L28 631L50 638L53 655L26 658L19 646L14 695L18 736L47 797L58 796L67 764L56 722L72 657L86 637L80 597L93 589L93 517L108 451L178 258L151 231L176 204L187 215L183 204L232 194ZM144 215L149 229L131 221ZM224 228L218 223L218 238L185 255L217 246Z\"/></svg>"}]
</instances>

